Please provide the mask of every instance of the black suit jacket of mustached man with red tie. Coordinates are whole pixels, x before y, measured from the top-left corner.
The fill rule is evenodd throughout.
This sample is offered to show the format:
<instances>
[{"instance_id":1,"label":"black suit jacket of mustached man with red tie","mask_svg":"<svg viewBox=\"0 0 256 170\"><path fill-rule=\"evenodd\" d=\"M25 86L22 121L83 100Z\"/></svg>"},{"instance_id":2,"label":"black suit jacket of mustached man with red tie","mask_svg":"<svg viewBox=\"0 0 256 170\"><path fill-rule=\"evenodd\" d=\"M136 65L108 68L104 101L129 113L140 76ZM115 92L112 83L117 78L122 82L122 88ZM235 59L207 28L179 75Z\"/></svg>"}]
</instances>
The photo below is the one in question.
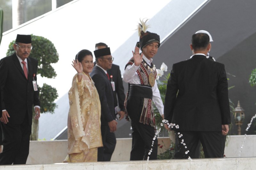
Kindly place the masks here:
<instances>
[{"instance_id":1,"label":"black suit jacket of mustached man with red tie","mask_svg":"<svg viewBox=\"0 0 256 170\"><path fill-rule=\"evenodd\" d=\"M1 105L9 113L12 124L21 124L27 113L32 124L32 106L40 106L39 92L34 91L32 84L34 74L36 80L37 60L28 57L27 62L28 80L15 53L0 60Z\"/></svg>"}]
</instances>

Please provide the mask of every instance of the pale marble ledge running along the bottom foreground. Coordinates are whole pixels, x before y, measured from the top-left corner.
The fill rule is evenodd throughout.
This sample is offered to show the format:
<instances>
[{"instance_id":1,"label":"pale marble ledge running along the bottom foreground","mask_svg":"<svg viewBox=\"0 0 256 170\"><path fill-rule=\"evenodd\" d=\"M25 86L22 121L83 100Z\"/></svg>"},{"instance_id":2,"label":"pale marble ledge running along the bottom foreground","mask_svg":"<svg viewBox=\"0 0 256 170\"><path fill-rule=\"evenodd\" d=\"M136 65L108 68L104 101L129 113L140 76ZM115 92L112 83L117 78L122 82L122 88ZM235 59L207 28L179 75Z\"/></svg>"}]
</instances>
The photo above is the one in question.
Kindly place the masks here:
<instances>
[{"instance_id":1,"label":"pale marble ledge running along the bottom foreground","mask_svg":"<svg viewBox=\"0 0 256 170\"><path fill-rule=\"evenodd\" d=\"M40 159L40 158L38 158ZM0 166L0 170L254 170L256 158L171 159Z\"/></svg>"}]
</instances>

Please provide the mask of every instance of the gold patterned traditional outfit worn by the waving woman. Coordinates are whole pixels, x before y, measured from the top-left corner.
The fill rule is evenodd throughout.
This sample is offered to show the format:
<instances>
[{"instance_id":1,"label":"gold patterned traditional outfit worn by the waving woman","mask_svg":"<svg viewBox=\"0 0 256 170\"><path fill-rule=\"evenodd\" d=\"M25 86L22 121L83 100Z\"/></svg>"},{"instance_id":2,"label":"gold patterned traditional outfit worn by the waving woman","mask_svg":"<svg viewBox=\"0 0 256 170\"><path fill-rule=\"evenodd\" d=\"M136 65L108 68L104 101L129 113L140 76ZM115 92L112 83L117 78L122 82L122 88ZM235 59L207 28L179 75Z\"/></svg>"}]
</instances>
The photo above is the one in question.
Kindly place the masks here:
<instances>
[{"instance_id":1,"label":"gold patterned traditional outfit worn by the waving woman","mask_svg":"<svg viewBox=\"0 0 256 170\"><path fill-rule=\"evenodd\" d=\"M96 162L103 146L100 132L100 99L90 76L74 76L68 92L68 156L64 162Z\"/></svg>"}]
</instances>

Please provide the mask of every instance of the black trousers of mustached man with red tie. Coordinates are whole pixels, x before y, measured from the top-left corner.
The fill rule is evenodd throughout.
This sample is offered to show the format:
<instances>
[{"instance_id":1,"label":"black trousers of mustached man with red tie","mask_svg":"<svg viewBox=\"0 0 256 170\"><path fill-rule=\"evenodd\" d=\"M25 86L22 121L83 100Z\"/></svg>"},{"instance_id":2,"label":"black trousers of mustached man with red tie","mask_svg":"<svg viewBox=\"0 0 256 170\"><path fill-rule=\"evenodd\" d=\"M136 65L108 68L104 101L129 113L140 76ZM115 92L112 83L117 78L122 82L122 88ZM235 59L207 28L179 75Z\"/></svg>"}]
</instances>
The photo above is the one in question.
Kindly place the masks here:
<instances>
[{"instance_id":1,"label":"black trousers of mustached man with red tie","mask_svg":"<svg viewBox=\"0 0 256 170\"><path fill-rule=\"evenodd\" d=\"M4 148L0 153L0 165L26 164L31 134L28 115L20 125L1 122L1 128Z\"/></svg>"}]
</instances>

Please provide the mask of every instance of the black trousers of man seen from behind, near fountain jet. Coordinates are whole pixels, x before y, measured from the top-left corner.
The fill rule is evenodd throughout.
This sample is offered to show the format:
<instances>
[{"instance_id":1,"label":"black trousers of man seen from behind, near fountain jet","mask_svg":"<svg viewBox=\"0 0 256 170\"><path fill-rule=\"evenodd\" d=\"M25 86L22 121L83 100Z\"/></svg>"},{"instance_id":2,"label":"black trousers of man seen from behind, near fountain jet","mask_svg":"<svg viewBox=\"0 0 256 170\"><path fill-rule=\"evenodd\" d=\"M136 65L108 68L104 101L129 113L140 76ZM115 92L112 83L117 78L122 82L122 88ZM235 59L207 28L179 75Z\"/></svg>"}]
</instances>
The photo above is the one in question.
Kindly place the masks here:
<instances>
[{"instance_id":1,"label":"black trousers of man seen from behind, near fountain jet","mask_svg":"<svg viewBox=\"0 0 256 170\"><path fill-rule=\"evenodd\" d=\"M180 133L180 134L179 134ZM223 157L223 135L220 132L175 131L175 159L198 158L201 142L205 158ZM183 141L182 141L183 140ZM187 148L186 148L187 147Z\"/></svg>"}]
</instances>

